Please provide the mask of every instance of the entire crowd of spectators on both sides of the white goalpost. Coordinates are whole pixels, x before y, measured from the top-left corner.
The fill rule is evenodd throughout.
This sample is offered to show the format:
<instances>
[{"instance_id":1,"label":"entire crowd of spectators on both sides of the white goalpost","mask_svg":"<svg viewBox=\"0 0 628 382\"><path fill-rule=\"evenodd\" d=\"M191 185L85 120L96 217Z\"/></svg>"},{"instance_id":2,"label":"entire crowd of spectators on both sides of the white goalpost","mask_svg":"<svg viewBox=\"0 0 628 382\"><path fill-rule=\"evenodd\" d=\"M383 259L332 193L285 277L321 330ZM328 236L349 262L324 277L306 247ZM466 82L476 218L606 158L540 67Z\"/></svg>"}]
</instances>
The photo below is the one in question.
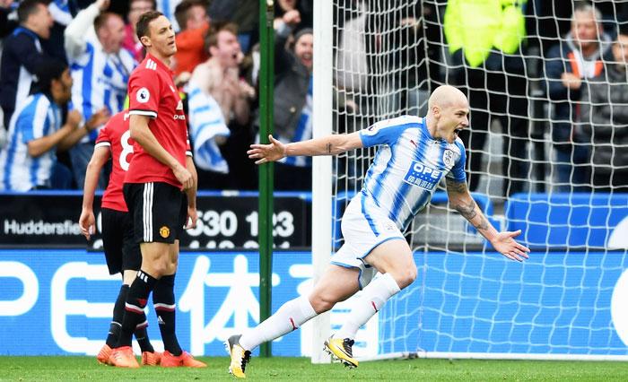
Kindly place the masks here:
<instances>
[{"instance_id":1,"label":"entire crowd of spectators on both sides of the white goalpost","mask_svg":"<svg viewBox=\"0 0 628 382\"><path fill-rule=\"evenodd\" d=\"M363 128L378 116L396 117L386 108L424 115L430 89L451 83L467 93L471 106L472 128L461 136L470 189L489 173L484 146L494 120L503 133L502 195L533 191L528 144L534 72L545 100L544 134L551 144L544 154L555 189L628 191L626 6L406 2L390 10L398 17L388 17L370 12L383 9L383 0L345 3L335 19L334 101L339 113L353 119L336 118L347 124L336 126L339 131ZM246 0L0 0L0 160L31 166L22 171L30 174L31 186L22 190L82 188L98 130L125 108L126 82L144 57L135 22L157 9L177 31L171 69L186 102L199 188L257 189L246 151L258 139L258 6ZM312 135L312 10L311 0L275 2L274 129L282 142ZM548 14L557 16L551 25ZM535 55L542 58L538 68L530 67ZM382 59L393 73L390 81L379 81L386 76L378 73ZM73 82L67 102L53 94L63 84L59 65ZM50 110L48 117L43 109ZM39 146L48 152L44 161L31 146L53 135ZM11 160L16 152L25 157ZM45 171L39 162L46 163ZM0 169L0 189L17 189L6 176L9 164L0 162L6 167ZM275 173L276 189L311 187L310 159L277 163Z\"/></svg>"}]
</instances>

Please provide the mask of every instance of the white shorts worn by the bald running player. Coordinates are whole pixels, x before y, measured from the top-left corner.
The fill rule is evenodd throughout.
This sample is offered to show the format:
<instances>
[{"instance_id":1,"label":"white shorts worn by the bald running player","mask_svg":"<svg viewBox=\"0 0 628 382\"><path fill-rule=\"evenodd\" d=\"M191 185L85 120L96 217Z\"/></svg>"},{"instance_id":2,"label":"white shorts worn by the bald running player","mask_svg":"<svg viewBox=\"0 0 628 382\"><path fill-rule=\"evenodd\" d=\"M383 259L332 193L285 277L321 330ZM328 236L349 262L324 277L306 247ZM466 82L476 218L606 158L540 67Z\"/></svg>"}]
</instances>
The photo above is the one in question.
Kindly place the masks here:
<instances>
[{"instance_id":1,"label":"white shorts worn by the bald running player","mask_svg":"<svg viewBox=\"0 0 628 382\"><path fill-rule=\"evenodd\" d=\"M364 257L385 241L405 240L401 230L388 218L387 213L372 205L365 207L362 206L362 194L353 196L341 221L345 244L331 257L333 265L360 270L360 289L367 286L377 273L375 268L364 262Z\"/></svg>"}]
</instances>

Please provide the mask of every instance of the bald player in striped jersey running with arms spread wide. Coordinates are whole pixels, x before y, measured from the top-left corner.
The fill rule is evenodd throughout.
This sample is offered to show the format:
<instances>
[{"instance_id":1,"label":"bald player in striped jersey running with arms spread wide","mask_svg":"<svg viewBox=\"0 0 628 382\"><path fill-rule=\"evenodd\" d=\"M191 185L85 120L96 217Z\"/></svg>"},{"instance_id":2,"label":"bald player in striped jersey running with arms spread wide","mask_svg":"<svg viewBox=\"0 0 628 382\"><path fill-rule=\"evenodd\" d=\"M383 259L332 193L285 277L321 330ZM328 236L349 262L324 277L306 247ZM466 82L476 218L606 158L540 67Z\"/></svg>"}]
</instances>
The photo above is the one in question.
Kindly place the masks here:
<instances>
[{"instance_id":1,"label":"bald player in striped jersey running with arms spread wide","mask_svg":"<svg viewBox=\"0 0 628 382\"><path fill-rule=\"evenodd\" d=\"M495 250L511 260L528 258L529 249L513 238L520 230L498 232L486 220L467 189L465 147L458 132L468 126L467 97L451 86L432 92L427 117L404 116L380 121L349 135L329 135L309 141L283 144L269 136L270 144L252 144L249 158L257 164L286 156L336 155L349 150L381 145L364 180L342 219L345 244L332 258L309 297L283 304L266 321L227 342L229 371L244 378L250 351L300 327L362 290L349 318L325 347L345 365L357 367L353 338L392 296L416 278L412 250L404 239L416 213L430 201L445 178L449 204L464 216ZM381 273L373 279L376 272ZM371 282L372 280L372 282Z\"/></svg>"}]
</instances>

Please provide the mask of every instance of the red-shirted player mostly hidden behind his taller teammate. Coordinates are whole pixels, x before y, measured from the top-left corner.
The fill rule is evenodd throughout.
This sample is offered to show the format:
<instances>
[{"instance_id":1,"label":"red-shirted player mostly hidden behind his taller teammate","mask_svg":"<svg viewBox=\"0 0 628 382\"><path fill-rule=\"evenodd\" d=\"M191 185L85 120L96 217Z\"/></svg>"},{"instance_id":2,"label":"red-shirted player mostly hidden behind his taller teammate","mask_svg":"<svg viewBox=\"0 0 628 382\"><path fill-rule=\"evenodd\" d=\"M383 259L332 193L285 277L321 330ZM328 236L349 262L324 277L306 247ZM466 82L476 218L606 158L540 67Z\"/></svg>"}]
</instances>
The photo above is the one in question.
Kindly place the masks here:
<instances>
[{"instance_id":1,"label":"red-shirted player mostly hidden behind his taller teammate","mask_svg":"<svg viewBox=\"0 0 628 382\"><path fill-rule=\"evenodd\" d=\"M79 218L79 225L83 235L88 240L96 231L96 219L93 213L94 192L98 186L100 169L111 159L111 174L109 185L102 195L102 247L105 250L105 258L109 274L122 273L122 287L118 292L118 299L113 308L113 319L109 326L107 341L100 349L96 359L100 363L109 363L111 349L118 344L120 326L126 295L129 285L135 279L135 274L142 265L140 247L133 238L133 221L126 209L122 184L128 163L133 158L133 143L130 141L128 131L128 113L125 111L116 114L109 119L107 125L100 129L92 160L85 171L85 187L83 191L83 211ZM146 333L146 316L135 327L135 339L142 349L142 364L159 364L161 353L155 352Z\"/></svg>"}]
</instances>

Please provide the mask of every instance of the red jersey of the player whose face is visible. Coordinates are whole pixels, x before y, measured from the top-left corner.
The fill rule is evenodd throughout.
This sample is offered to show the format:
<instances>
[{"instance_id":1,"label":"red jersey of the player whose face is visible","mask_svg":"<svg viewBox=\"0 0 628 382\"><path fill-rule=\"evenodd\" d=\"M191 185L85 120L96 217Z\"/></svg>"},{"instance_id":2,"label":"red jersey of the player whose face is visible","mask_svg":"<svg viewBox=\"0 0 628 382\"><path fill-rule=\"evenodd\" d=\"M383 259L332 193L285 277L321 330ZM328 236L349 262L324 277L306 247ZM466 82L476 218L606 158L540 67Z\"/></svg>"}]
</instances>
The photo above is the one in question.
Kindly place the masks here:
<instances>
[{"instance_id":1,"label":"red jersey of the player whose face is visible","mask_svg":"<svg viewBox=\"0 0 628 382\"><path fill-rule=\"evenodd\" d=\"M151 117L148 127L161 146L181 165L186 166L189 151L188 127L183 102L172 80L172 72L154 56L135 68L128 82L130 115ZM172 170L144 152L138 143L126 172L125 183L165 182L182 187Z\"/></svg>"}]
</instances>

